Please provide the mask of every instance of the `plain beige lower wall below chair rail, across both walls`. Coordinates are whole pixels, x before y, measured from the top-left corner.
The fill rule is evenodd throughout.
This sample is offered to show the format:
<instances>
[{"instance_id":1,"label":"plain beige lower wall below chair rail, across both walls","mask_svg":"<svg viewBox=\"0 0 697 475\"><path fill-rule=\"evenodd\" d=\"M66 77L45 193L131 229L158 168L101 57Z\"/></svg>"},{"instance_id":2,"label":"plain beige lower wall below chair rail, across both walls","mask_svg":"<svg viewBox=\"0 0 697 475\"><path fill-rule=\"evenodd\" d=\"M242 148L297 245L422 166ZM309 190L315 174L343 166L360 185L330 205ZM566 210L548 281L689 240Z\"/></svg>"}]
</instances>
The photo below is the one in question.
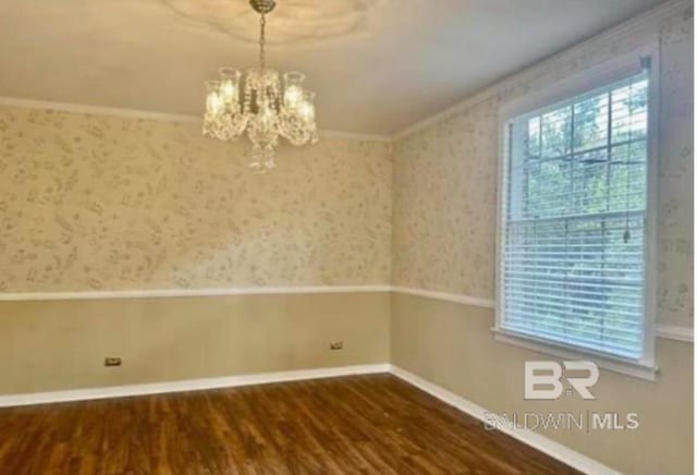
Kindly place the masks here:
<instances>
[{"instance_id":1,"label":"plain beige lower wall below chair rail, across both walls","mask_svg":"<svg viewBox=\"0 0 697 475\"><path fill-rule=\"evenodd\" d=\"M524 362L550 357L492 325L491 309L387 292L3 302L0 394L391 362L497 413L638 412L635 431L545 435L625 473L692 473L690 344L658 340L655 382L601 370L596 401L524 401Z\"/></svg>"}]
</instances>

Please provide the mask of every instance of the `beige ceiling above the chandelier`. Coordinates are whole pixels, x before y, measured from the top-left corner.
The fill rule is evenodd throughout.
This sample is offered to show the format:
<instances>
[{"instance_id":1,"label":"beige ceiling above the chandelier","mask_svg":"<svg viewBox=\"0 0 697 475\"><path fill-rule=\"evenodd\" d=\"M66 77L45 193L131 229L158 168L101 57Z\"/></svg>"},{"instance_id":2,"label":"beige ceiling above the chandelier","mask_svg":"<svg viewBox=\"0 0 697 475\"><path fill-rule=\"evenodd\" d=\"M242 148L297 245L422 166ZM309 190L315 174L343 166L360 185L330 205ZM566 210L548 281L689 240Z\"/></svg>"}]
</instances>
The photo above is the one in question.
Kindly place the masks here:
<instances>
[{"instance_id":1,"label":"beige ceiling above the chandelier","mask_svg":"<svg viewBox=\"0 0 697 475\"><path fill-rule=\"evenodd\" d=\"M277 0L268 61L321 129L392 134L661 0ZM200 114L256 64L247 0L2 0L0 96Z\"/></svg>"}]
</instances>

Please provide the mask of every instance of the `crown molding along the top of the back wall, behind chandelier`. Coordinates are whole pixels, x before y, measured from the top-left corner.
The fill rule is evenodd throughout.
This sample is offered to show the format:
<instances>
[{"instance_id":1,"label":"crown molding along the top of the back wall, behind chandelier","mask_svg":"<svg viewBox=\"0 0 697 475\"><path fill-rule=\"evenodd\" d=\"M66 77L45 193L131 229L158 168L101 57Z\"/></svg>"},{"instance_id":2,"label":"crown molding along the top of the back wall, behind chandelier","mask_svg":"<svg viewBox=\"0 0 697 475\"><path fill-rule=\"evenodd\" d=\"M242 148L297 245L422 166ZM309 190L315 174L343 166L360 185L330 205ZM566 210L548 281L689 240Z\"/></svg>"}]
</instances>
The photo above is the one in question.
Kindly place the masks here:
<instances>
[{"instance_id":1,"label":"crown molding along the top of the back wall, behind chandelier","mask_svg":"<svg viewBox=\"0 0 697 475\"><path fill-rule=\"evenodd\" d=\"M50 100L34 100L22 97L0 96L0 106L20 107L25 109L47 109L59 112L84 113L94 115L110 115L124 119L142 119L159 122L174 122L199 124L201 118L188 114L155 112L149 110L123 109L118 107L87 106L83 103L54 102ZM321 137L330 141L380 142L391 143L392 137L380 134L364 134L357 132L320 130Z\"/></svg>"}]
</instances>

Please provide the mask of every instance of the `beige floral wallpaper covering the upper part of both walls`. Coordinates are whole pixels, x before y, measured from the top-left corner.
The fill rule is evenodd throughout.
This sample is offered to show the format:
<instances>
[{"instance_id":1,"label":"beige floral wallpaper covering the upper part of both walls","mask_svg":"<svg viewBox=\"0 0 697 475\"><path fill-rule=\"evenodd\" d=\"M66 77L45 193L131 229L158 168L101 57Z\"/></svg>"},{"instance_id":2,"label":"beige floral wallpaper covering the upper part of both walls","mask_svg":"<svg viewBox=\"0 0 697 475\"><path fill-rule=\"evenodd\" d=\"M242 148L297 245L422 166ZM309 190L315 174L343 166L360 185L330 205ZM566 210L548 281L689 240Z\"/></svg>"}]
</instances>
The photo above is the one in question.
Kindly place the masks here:
<instances>
[{"instance_id":1,"label":"beige floral wallpaper covering the upper part of both walls","mask_svg":"<svg viewBox=\"0 0 697 475\"><path fill-rule=\"evenodd\" d=\"M693 320L693 8L510 80L399 139L280 150L196 124L0 107L0 292L370 284L494 294L501 105L661 45L659 320Z\"/></svg>"}]
</instances>

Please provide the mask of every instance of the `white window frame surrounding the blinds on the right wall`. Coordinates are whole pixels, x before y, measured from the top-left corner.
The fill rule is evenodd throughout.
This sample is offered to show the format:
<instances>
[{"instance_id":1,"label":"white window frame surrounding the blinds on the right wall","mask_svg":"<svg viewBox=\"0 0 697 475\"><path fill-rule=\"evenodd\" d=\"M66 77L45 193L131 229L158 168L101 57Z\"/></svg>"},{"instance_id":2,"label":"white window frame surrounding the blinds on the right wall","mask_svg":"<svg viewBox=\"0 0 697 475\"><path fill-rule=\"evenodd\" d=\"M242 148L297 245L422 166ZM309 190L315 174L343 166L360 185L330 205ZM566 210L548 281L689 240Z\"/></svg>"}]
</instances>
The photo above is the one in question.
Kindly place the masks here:
<instances>
[{"instance_id":1,"label":"white window frame surrounding the blinds on the right wall","mask_svg":"<svg viewBox=\"0 0 697 475\"><path fill-rule=\"evenodd\" d=\"M506 193L510 145L510 124L515 118L589 93L599 87L628 77L641 71L649 61L647 103L647 181L645 222L645 292L644 292L644 343L643 356L638 360L614 356L563 342L535 338L504 328L503 245L506 231ZM580 74L563 78L551 86L514 99L499 109L499 176L497 206L497 269L496 269L496 319L492 331L498 341L535 350L565 360L588 360L599 367L641 379L655 380L656 364L656 315L658 294L658 211L659 211L659 46L658 39L636 48L629 53L614 58Z\"/></svg>"}]
</instances>

